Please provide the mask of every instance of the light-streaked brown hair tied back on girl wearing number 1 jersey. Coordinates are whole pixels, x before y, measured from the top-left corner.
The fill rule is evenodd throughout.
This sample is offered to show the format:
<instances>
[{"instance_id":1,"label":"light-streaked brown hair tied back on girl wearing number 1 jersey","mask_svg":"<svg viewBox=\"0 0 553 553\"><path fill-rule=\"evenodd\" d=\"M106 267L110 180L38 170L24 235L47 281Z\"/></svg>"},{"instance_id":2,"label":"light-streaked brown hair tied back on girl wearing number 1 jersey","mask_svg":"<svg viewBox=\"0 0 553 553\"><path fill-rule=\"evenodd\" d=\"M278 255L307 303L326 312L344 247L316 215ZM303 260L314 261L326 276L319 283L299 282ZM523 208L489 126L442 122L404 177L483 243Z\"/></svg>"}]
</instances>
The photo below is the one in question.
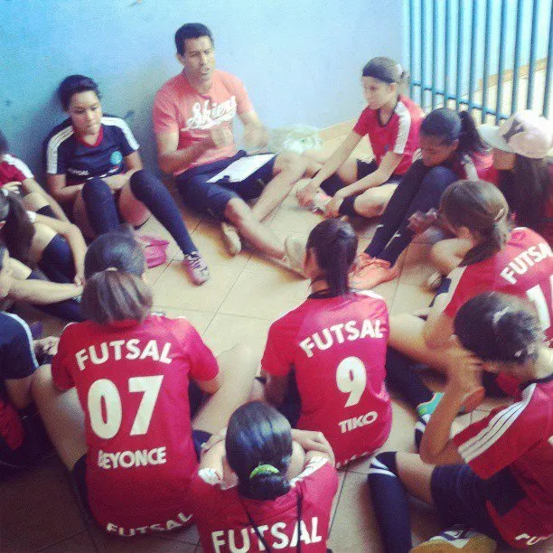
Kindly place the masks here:
<instances>
[{"instance_id":1,"label":"light-streaked brown hair tied back on girl wearing number 1 jersey","mask_svg":"<svg viewBox=\"0 0 553 553\"><path fill-rule=\"evenodd\" d=\"M440 214L454 229L465 227L479 237L461 267L491 258L509 238L509 207L500 190L483 181L457 181L442 194Z\"/></svg>"}]
</instances>

